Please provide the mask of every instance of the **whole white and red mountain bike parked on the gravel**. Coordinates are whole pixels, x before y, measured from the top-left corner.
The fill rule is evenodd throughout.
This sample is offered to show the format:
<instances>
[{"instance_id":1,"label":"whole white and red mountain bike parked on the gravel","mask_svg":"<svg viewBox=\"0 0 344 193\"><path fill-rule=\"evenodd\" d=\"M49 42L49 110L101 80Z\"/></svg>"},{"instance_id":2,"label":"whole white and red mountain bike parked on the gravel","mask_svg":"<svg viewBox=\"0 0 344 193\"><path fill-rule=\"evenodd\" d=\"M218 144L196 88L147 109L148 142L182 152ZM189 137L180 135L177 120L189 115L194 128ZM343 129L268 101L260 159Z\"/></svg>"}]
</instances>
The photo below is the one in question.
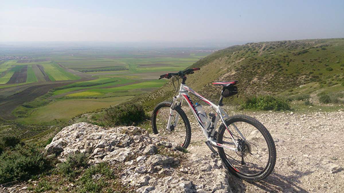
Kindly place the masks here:
<instances>
[{"instance_id":1,"label":"whole white and red mountain bike parked on the gravel","mask_svg":"<svg viewBox=\"0 0 344 193\"><path fill-rule=\"evenodd\" d=\"M159 79L181 78L182 83L179 94L173 97L172 102L162 102L155 107L152 114L153 132L187 148L191 140L191 127L182 109L185 100L203 131L205 143L213 152L212 156L219 155L226 169L238 178L250 182L266 178L276 163L275 143L269 131L255 118L246 115L229 117L222 108L224 98L238 93L235 86L237 81L213 83L222 86L218 105L186 86L186 75L198 70L200 68L192 68L160 76ZM193 103L189 93L204 101L214 113L207 115L200 104ZM219 120L222 124L216 129Z\"/></svg>"}]
</instances>

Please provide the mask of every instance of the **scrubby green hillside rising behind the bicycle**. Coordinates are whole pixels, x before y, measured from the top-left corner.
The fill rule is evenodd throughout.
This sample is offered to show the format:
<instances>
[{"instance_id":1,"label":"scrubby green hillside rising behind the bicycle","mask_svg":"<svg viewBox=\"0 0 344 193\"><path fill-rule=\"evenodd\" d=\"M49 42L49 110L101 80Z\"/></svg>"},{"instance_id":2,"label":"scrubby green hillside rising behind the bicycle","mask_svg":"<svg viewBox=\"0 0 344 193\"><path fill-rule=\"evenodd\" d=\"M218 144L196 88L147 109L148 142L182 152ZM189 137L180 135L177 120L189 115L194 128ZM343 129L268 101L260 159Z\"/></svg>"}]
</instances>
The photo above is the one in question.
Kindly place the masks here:
<instances>
[{"instance_id":1,"label":"scrubby green hillside rising behind the bicycle","mask_svg":"<svg viewBox=\"0 0 344 193\"><path fill-rule=\"evenodd\" d=\"M239 98L251 95L291 95L344 90L344 39L247 43L215 52L190 67L201 67L186 84L210 99L218 99L215 81L237 80ZM158 78L158 77L157 77ZM343 84L343 85L342 85ZM300 88L302 85L302 89ZM170 82L135 100L146 107L173 95Z\"/></svg>"}]
</instances>

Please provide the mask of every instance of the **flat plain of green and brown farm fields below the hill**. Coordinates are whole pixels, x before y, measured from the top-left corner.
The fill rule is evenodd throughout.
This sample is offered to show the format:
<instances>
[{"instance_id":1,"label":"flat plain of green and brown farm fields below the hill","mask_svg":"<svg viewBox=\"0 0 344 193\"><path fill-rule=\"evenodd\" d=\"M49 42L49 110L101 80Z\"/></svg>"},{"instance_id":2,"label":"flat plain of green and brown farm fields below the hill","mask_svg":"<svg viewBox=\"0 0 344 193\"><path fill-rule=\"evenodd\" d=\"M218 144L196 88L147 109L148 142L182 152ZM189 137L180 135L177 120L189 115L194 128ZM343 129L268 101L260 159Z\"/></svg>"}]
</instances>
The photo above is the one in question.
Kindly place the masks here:
<instances>
[{"instance_id":1,"label":"flat plain of green and brown farm fields below the hill","mask_svg":"<svg viewBox=\"0 0 344 193\"><path fill-rule=\"evenodd\" d=\"M161 74L183 70L211 52L62 49L22 54L0 61L0 117L49 122L116 105L161 87L166 82L157 80Z\"/></svg>"}]
</instances>

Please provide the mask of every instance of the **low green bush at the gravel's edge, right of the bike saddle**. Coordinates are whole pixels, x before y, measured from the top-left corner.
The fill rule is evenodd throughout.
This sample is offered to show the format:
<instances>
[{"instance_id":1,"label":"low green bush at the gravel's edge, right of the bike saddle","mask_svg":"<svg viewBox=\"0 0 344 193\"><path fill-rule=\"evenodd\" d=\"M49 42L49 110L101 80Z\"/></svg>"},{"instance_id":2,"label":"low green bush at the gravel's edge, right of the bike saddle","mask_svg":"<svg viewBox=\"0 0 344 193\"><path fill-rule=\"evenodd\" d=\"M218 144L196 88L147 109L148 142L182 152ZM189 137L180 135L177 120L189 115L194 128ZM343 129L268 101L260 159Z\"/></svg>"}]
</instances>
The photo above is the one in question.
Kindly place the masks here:
<instances>
[{"instance_id":1,"label":"low green bush at the gravel's edge, right of the bike saddle","mask_svg":"<svg viewBox=\"0 0 344 193\"><path fill-rule=\"evenodd\" d=\"M257 110L290 110L290 105L287 100L275 98L273 96L255 96L248 98L241 105L243 109L257 109Z\"/></svg>"}]
</instances>

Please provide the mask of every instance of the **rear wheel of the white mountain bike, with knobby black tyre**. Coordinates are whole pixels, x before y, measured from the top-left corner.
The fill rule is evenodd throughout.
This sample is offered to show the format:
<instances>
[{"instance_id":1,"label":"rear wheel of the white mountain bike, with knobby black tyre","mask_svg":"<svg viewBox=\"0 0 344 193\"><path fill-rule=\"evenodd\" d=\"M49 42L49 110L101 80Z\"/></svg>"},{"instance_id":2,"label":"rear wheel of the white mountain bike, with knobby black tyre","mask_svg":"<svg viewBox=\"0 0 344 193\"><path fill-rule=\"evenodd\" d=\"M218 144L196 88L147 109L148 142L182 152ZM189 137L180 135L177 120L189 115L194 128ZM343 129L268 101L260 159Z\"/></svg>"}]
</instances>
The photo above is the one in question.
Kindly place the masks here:
<instances>
[{"instance_id":1,"label":"rear wheel of the white mountain bike, with knobby black tyre","mask_svg":"<svg viewBox=\"0 0 344 193\"><path fill-rule=\"evenodd\" d=\"M254 182L266 178L276 163L275 143L269 131L258 120L246 115L229 117L226 125L239 144L237 152L222 147L217 148L226 168L246 181ZM235 147L229 131L222 124L218 130L217 142L224 146Z\"/></svg>"}]
</instances>

